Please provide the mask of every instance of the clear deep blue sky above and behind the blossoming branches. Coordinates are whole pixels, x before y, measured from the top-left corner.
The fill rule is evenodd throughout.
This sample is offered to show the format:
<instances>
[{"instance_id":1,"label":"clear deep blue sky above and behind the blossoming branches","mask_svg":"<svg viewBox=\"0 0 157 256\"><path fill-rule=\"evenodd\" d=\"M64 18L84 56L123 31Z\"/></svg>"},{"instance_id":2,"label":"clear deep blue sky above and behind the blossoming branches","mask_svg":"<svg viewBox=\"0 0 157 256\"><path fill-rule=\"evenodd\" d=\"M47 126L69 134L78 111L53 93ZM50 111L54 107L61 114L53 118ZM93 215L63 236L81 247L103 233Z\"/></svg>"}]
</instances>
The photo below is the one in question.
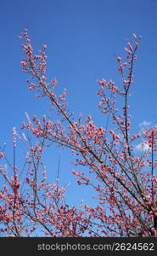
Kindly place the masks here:
<instances>
[{"instance_id":1,"label":"clear deep blue sky above and behind the blossoming branches","mask_svg":"<svg viewBox=\"0 0 157 256\"><path fill-rule=\"evenodd\" d=\"M27 28L34 49L48 44L48 78L57 77L67 89L70 110L98 115L96 79L113 79L119 85L115 55L123 54L126 38L142 35L132 92L133 124L157 124L157 1L156 0L1 0L0 2L0 144L12 155L12 128L20 131L25 111L41 117L48 104L27 90L20 72L23 57L18 35ZM42 108L41 108L42 107ZM48 173L56 176L56 153L48 155ZM61 182L73 183L70 157L61 158ZM70 202L76 202L71 185ZM85 190L76 187L78 201ZM86 189L86 188L85 188ZM82 193L80 192L82 191ZM78 192L78 193L77 193ZM89 195L89 193L88 193Z\"/></svg>"}]
</instances>

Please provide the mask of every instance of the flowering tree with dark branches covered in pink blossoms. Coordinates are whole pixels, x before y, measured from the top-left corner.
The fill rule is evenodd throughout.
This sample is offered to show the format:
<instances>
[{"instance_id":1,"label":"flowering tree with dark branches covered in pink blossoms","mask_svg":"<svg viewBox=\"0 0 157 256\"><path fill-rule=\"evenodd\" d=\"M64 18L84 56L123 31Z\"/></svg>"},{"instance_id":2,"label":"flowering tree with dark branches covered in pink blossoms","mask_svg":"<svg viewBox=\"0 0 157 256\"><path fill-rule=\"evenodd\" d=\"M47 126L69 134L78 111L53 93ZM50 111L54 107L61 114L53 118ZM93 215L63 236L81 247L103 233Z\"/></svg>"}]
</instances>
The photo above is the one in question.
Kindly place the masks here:
<instances>
[{"instance_id":1,"label":"flowering tree with dark branches covered in pink blossoms","mask_svg":"<svg viewBox=\"0 0 157 256\"><path fill-rule=\"evenodd\" d=\"M91 115L82 120L81 115L76 118L69 109L66 110L66 90L58 96L54 86L57 79L46 83L47 46L42 46L39 55L33 55L26 29L20 38L25 41L22 49L26 58L21 65L25 74L29 74L29 88L36 90L38 97L44 96L48 100L50 118L43 115L40 120L36 115L30 118L25 113L26 124L21 125L26 130L27 140L22 133L25 141L13 129L13 164L3 158L2 162L7 160L8 167L0 166L3 182L0 232L3 236L11 234L18 237L33 236L35 233L31 232L34 230L36 234L42 232L43 236L137 237L141 234L156 237L153 219L157 211L157 127L146 129L141 134L134 133L126 103L132 90L137 37L134 36L132 44L127 43L126 62L122 63L121 57L116 55L121 82L118 85L112 80L98 82L98 108L103 113L101 125ZM128 68L125 69L126 66ZM147 154L135 150L135 140L139 137L143 145L149 145ZM15 148L18 139L29 151L24 163L21 160L23 148L22 154L18 152L19 145ZM48 153L52 165L44 164L43 160L47 159L47 156L42 157L45 149L51 149L55 143L63 150L68 148L66 157L71 151L72 164L76 166L72 174L80 186L90 186L88 194L94 198L93 207L84 205L82 201L79 206L69 205L65 194L68 186L60 187L63 175L59 176L64 171L64 175L69 177L68 170L64 170L64 158L59 157L62 164L57 167L55 178L54 158L58 155L55 150L49 151L54 153L52 155ZM5 147L1 151L0 157L6 156ZM79 188L72 189L72 193L79 193Z\"/></svg>"}]
</instances>

